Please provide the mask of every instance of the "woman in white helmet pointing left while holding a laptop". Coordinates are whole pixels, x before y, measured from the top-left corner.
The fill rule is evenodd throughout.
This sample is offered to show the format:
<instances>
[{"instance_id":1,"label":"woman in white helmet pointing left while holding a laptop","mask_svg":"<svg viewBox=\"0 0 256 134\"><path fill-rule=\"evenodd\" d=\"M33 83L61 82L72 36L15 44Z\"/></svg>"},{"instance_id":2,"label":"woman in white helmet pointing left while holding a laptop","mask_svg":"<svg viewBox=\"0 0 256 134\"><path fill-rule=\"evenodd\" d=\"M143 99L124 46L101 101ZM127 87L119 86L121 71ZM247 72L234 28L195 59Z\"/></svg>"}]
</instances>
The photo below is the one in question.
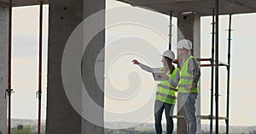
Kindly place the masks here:
<instances>
[{"instance_id":1,"label":"woman in white helmet pointing left while holding a laptop","mask_svg":"<svg viewBox=\"0 0 256 134\"><path fill-rule=\"evenodd\" d=\"M138 64L143 70L147 70L148 72L164 71L166 73L164 79L158 84L155 95L154 126L156 134L162 134L161 120L164 110L167 122L166 133L172 134L173 131L172 114L176 103L176 92L180 77L180 71L172 64L174 59L174 53L171 50L167 50L162 55L162 68L150 68L147 65L138 62L137 59L132 60L133 64Z\"/></svg>"}]
</instances>

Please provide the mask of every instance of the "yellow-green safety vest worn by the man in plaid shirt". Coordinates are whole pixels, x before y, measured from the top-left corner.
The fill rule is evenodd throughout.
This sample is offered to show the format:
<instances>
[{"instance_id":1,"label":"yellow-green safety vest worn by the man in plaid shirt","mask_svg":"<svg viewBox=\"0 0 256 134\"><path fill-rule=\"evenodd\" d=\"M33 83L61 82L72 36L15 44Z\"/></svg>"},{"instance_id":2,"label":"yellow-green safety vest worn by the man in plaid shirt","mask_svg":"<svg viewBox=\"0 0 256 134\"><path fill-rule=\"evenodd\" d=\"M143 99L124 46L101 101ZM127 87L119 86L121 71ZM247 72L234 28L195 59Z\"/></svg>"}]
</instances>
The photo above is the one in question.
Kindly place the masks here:
<instances>
[{"instance_id":1,"label":"yellow-green safety vest worn by the man in plaid shirt","mask_svg":"<svg viewBox=\"0 0 256 134\"><path fill-rule=\"evenodd\" d=\"M189 59L194 59L193 56L189 56ZM188 93L188 92L196 92L198 93L198 88L192 88L190 90L187 90L185 87L192 85L193 83L193 75L190 75L188 73L188 64L189 59L186 59L186 61L183 63L183 68L181 69L181 76L180 76L180 85L178 87L178 92Z\"/></svg>"}]
</instances>

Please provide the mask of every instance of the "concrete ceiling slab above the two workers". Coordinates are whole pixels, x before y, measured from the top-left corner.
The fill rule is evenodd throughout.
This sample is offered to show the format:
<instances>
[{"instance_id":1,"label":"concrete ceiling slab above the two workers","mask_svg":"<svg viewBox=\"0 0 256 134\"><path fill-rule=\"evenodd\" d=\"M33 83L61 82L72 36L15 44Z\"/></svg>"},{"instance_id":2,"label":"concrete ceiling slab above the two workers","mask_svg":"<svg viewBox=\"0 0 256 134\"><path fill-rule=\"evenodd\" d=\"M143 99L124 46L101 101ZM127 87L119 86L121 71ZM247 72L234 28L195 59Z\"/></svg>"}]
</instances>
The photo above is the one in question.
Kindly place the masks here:
<instances>
[{"instance_id":1,"label":"concrete ceiling slab above the two workers","mask_svg":"<svg viewBox=\"0 0 256 134\"><path fill-rule=\"evenodd\" d=\"M147 8L173 16L183 12L195 12L201 16L212 15L214 0L117 0L132 6ZM219 14L256 13L256 0L219 0Z\"/></svg>"}]
</instances>

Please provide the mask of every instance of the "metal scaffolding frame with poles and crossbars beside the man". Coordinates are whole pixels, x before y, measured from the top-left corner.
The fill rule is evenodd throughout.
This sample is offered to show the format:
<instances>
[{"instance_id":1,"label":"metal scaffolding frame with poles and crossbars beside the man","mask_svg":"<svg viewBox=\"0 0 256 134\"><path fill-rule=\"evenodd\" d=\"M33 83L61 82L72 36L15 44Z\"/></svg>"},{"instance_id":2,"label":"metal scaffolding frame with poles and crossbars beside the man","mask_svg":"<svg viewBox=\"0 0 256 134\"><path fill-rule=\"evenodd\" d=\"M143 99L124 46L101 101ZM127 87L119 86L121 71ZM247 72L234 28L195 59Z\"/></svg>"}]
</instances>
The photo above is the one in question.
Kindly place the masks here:
<instances>
[{"instance_id":1,"label":"metal scaffolding frame with poles and crossbars beside the man","mask_svg":"<svg viewBox=\"0 0 256 134\"><path fill-rule=\"evenodd\" d=\"M216 9L215 9L216 8ZM212 134L212 120L216 120L215 132L218 133L218 120L225 120L226 123L226 134L229 133L229 117L230 117L230 47L231 47L231 22L232 14L230 14L229 20L229 36L228 36L228 63L219 62L218 60L218 0L216 0L216 7L212 8L212 58L211 59L197 59L201 61L209 61L211 64L201 64L201 67L211 67L211 100L210 100L210 114L209 115L196 115L196 118L201 120L210 120L210 133ZM172 16L171 16L172 17ZM216 26L215 26L216 25ZM170 27L170 29L172 26ZM171 29L172 30L172 29ZM171 31L170 30L170 31ZM171 31L172 32L172 31ZM172 35L172 33L170 33ZM170 43L169 43L170 44ZM215 60L214 60L215 56ZM214 62L215 61L215 62ZM177 60L175 61L177 64ZM218 115L218 68L225 66L227 68L227 100L226 100L226 116L220 117ZM215 67L215 94L213 92L214 86L214 67ZM213 96L215 96L215 116L213 116ZM174 115L174 118L184 118L182 115Z\"/></svg>"}]
</instances>

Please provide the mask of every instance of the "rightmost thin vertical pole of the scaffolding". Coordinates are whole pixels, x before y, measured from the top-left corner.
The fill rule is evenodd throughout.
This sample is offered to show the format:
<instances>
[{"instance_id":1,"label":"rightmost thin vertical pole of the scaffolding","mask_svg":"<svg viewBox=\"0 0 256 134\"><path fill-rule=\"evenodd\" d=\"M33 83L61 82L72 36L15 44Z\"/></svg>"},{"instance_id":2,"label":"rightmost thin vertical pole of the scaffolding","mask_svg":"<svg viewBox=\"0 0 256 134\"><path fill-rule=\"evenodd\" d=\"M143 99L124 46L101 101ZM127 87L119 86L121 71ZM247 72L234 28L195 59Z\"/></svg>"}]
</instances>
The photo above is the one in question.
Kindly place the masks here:
<instances>
[{"instance_id":1,"label":"rightmost thin vertical pole of the scaffolding","mask_svg":"<svg viewBox=\"0 0 256 134\"><path fill-rule=\"evenodd\" d=\"M228 83L227 83L227 119L226 119L226 134L229 133L229 120L230 120L230 47L231 47L231 22L232 22L232 14L230 14L230 24L229 24L229 47L228 47Z\"/></svg>"}]
</instances>

